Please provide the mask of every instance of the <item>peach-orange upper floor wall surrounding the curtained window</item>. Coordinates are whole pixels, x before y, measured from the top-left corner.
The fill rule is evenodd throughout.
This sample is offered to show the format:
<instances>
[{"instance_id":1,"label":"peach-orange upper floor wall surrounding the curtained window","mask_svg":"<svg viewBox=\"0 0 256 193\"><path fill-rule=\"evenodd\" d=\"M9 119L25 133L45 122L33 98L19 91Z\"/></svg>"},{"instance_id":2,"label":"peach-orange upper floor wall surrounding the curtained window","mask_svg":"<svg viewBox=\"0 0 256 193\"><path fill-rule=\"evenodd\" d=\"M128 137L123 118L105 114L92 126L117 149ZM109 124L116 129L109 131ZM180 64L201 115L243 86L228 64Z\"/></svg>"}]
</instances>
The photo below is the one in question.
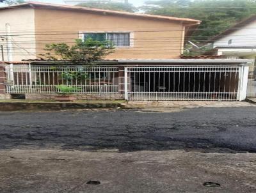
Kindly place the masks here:
<instances>
[{"instance_id":1,"label":"peach-orange upper floor wall surrounding the curtained window","mask_svg":"<svg viewBox=\"0 0 256 193\"><path fill-rule=\"evenodd\" d=\"M71 45L77 38L94 35L116 44L106 59L172 59L182 54L185 27L180 21L36 9L35 29L39 51L46 42Z\"/></svg>"}]
</instances>

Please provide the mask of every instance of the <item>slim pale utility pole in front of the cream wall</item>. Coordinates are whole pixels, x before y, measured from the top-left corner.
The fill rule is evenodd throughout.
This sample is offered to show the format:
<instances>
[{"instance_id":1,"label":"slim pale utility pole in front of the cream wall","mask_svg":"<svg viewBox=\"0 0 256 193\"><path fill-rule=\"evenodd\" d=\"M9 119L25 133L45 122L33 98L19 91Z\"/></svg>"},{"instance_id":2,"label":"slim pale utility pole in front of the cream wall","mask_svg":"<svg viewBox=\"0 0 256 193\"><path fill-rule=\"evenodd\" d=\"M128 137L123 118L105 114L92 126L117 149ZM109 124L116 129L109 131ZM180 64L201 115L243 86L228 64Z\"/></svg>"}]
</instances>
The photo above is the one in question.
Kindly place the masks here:
<instances>
[{"instance_id":1,"label":"slim pale utility pole in front of the cream wall","mask_svg":"<svg viewBox=\"0 0 256 193\"><path fill-rule=\"evenodd\" d=\"M6 29L6 42L7 42L7 61L10 62L10 81L14 80L13 77L13 57L12 57L12 36L11 36L11 25L5 24Z\"/></svg>"}]
</instances>

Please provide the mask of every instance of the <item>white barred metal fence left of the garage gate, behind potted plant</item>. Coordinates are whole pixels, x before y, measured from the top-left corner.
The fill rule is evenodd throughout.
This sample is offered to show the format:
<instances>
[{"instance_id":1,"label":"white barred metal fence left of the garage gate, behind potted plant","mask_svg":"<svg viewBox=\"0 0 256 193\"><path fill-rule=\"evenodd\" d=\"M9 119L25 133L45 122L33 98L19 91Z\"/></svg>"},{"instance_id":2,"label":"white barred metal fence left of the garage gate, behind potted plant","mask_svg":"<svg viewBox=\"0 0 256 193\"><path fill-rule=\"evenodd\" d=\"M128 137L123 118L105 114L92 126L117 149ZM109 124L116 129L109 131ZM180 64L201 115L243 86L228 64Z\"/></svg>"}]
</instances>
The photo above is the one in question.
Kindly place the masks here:
<instances>
[{"instance_id":1,"label":"white barred metal fence left of the garage gate, behind potted plant","mask_svg":"<svg viewBox=\"0 0 256 193\"><path fill-rule=\"evenodd\" d=\"M118 93L115 66L6 66L7 93L60 93L58 86L70 86L72 93Z\"/></svg>"}]
</instances>

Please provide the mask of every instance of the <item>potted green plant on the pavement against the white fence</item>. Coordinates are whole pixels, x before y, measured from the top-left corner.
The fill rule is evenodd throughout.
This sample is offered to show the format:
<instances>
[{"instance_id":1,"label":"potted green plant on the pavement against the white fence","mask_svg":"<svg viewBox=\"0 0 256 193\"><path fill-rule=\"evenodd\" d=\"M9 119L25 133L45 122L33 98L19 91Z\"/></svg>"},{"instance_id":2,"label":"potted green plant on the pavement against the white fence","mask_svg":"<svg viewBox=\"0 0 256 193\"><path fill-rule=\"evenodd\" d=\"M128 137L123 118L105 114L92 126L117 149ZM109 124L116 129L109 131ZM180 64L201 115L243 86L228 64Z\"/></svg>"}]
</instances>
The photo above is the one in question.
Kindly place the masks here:
<instances>
[{"instance_id":1,"label":"potted green plant on the pavement against the white fence","mask_svg":"<svg viewBox=\"0 0 256 193\"><path fill-rule=\"evenodd\" d=\"M60 91L58 92L58 95L55 96L56 100L61 102L76 100L76 97L72 96L72 94L74 91L77 91L78 88L67 85L58 85L56 88Z\"/></svg>"}]
</instances>

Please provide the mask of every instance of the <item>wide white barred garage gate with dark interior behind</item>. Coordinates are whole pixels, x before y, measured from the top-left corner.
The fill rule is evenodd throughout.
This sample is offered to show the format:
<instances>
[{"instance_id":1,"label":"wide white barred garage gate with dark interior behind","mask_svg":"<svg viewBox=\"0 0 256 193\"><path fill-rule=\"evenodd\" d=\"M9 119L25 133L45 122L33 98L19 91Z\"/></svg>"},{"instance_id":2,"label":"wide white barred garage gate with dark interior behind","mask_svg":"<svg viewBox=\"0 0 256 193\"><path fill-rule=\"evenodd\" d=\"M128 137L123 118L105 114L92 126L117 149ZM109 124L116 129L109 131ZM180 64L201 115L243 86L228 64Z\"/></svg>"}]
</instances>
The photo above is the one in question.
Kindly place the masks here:
<instances>
[{"instance_id":1,"label":"wide white barred garage gate with dark interior behind","mask_svg":"<svg viewBox=\"0 0 256 193\"><path fill-rule=\"evenodd\" d=\"M126 100L244 100L248 67L143 66L125 68Z\"/></svg>"}]
</instances>

